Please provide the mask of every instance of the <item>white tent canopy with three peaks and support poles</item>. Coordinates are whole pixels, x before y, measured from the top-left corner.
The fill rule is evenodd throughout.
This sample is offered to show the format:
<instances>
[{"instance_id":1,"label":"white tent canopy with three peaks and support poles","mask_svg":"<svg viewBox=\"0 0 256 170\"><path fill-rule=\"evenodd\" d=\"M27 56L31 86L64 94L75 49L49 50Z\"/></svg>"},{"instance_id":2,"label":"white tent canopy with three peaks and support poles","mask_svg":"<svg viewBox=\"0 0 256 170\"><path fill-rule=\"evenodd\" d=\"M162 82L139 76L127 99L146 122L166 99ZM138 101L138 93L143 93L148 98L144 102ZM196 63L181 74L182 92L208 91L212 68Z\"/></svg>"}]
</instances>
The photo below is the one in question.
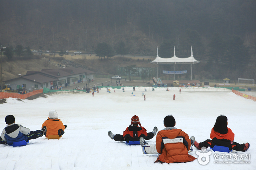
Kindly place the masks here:
<instances>
[{"instance_id":1,"label":"white tent canopy with three peaks and support poles","mask_svg":"<svg viewBox=\"0 0 256 170\"><path fill-rule=\"evenodd\" d=\"M175 55L175 46L174 46L174 56L171 58L161 58L158 56L158 49L156 50L156 58L151 61L151 63L156 64L156 78L157 78L157 65L159 64L173 64L174 65L174 71L175 71L175 64L190 64L191 68L191 80L192 80L192 64L199 63L196 59L194 59L192 46L191 46L191 56L188 58L179 58ZM174 80L175 80L175 74L174 74Z\"/></svg>"}]
</instances>

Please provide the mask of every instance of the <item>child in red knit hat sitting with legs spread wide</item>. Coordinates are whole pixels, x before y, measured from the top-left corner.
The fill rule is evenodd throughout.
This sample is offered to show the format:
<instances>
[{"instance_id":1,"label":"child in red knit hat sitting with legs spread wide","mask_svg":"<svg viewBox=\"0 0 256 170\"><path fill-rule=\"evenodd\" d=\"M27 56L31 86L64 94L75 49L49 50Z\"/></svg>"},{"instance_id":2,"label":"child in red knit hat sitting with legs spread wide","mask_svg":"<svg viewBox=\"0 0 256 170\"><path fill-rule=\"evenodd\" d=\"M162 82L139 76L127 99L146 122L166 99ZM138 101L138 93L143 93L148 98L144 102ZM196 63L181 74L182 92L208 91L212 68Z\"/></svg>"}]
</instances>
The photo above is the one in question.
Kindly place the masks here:
<instances>
[{"instance_id":1,"label":"child in red knit hat sitting with legs spread wide","mask_svg":"<svg viewBox=\"0 0 256 170\"><path fill-rule=\"evenodd\" d=\"M140 127L138 126L140 125ZM143 137L146 140L152 139L157 132L157 127L154 127L152 132L147 133L146 129L141 126L140 119L138 116L134 115L131 117L131 125L123 131L123 135L113 134L111 131L108 131L108 136L115 141L139 141L140 137Z\"/></svg>"}]
</instances>

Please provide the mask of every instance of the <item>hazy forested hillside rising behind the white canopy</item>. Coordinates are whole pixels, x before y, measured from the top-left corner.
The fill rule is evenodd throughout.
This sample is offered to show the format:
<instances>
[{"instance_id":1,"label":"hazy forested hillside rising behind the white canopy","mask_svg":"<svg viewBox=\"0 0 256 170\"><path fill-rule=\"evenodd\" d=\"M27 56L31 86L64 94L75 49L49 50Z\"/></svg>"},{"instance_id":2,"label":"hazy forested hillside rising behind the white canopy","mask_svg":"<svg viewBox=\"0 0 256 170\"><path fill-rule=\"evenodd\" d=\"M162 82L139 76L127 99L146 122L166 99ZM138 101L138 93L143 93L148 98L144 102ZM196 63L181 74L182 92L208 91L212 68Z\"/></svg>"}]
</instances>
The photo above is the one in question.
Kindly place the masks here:
<instances>
[{"instance_id":1,"label":"hazy forested hillside rising behind the white canopy","mask_svg":"<svg viewBox=\"0 0 256 170\"><path fill-rule=\"evenodd\" d=\"M255 0L3 0L0 44L194 57L211 78L255 78ZM200 71L200 72L201 72ZM197 74L200 74L197 72Z\"/></svg>"}]
</instances>

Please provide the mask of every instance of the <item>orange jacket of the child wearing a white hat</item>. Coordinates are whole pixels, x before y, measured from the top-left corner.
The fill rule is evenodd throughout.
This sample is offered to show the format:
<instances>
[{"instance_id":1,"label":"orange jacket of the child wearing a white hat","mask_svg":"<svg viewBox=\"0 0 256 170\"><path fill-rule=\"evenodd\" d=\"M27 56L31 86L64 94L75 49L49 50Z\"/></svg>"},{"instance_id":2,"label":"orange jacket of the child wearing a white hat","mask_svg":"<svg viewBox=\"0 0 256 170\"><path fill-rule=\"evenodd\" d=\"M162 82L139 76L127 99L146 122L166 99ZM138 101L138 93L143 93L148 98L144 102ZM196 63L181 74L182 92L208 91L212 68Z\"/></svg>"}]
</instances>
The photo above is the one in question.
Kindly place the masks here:
<instances>
[{"instance_id":1,"label":"orange jacket of the child wearing a white hat","mask_svg":"<svg viewBox=\"0 0 256 170\"><path fill-rule=\"evenodd\" d=\"M65 129L65 126L60 119L50 119L49 117L42 124L42 127L44 126L46 126L47 128L45 137L48 137L48 135L58 135L58 131L60 129L62 129L63 131Z\"/></svg>"}]
</instances>

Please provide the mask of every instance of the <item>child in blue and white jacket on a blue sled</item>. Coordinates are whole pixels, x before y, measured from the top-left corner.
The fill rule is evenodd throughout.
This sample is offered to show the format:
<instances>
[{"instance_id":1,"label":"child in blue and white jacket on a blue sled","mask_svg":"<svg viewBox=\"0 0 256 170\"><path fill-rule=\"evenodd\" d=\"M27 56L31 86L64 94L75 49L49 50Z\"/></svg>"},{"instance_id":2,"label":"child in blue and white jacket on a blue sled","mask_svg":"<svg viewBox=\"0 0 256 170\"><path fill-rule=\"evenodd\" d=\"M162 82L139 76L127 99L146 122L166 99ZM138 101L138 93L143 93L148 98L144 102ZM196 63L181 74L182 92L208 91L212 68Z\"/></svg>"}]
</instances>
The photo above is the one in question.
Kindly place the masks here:
<instances>
[{"instance_id":1,"label":"child in blue and white jacket on a blue sled","mask_svg":"<svg viewBox=\"0 0 256 170\"><path fill-rule=\"evenodd\" d=\"M7 126L1 133L0 144L7 143L12 145L14 142L25 140L28 142L30 139L36 139L44 135L47 128L44 126L42 130L30 131L29 128L23 127L21 124L15 124L15 117L8 115L5 117Z\"/></svg>"}]
</instances>

